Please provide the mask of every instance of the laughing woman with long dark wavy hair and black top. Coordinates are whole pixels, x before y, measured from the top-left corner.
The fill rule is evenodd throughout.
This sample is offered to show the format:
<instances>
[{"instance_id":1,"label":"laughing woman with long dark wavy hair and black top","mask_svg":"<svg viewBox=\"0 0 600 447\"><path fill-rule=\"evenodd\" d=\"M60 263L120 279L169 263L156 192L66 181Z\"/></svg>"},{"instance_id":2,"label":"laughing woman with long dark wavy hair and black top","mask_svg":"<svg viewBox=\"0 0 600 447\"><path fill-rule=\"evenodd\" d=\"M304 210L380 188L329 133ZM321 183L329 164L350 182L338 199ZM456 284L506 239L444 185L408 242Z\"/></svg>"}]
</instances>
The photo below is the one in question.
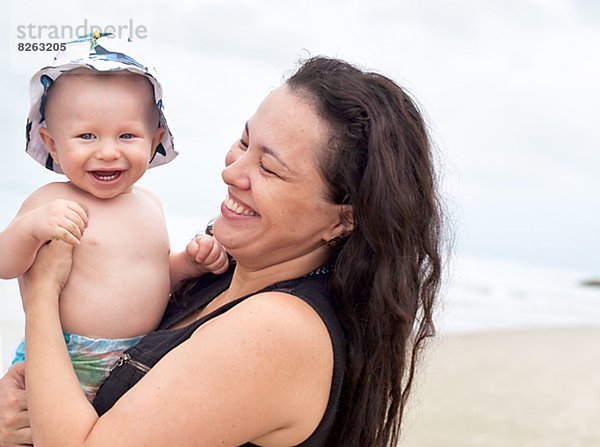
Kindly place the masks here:
<instances>
[{"instance_id":1,"label":"laughing woman with long dark wavy hair and black top","mask_svg":"<svg viewBox=\"0 0 600 447\"><path fill-rule=\"evenodd\" d=\"M69 249L49 244L36 261L22 290L36 444L396 445L440 280L417 108L384 76L310 59L246 123L222 176L214 235L236 265L172 300L98 392L98 413L58 320ZM17 394L17 376L0 396ZM0 444L27 425L12 411L22 400L4 402Z\"/></svg>"}]
</instances>

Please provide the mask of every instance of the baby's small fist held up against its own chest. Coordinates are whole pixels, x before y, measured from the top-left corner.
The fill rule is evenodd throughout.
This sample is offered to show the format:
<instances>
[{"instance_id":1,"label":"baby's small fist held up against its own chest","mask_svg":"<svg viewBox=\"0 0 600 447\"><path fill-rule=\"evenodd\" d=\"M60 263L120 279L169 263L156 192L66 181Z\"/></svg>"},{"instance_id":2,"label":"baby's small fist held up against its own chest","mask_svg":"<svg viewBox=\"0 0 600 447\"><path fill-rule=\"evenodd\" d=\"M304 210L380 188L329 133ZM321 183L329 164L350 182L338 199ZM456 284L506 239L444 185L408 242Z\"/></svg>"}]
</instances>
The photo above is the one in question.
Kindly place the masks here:
<instances>
[{"instance_id":1,"label":"baby's small fist held up against its own chest","mask_svg":"<svg viewBox=\"0 0 600 447\"><path fill-rule=\"evenodd\" d=\"M79 245L87 227L87 212L71 200L53 200L30 211L32 234L40 242L61 240Z\"/></svg>"}]
</instances>

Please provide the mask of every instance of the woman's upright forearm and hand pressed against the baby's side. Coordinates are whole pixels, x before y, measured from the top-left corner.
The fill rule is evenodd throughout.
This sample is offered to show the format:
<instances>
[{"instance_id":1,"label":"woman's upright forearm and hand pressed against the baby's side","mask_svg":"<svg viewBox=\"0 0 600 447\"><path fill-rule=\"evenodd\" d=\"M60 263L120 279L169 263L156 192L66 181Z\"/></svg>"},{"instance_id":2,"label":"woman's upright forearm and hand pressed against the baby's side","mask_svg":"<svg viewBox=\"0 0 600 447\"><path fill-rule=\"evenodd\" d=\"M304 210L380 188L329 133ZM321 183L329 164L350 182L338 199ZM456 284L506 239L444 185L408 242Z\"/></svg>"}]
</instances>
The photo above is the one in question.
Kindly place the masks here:
<instances>
[{"instance_id":1,"label":"woman's upright forearm and hand pressed against the baby's side","mask_svg":"<svg viewBox=\"0 0 600 447\"><path fill-rule=\"evenodd\" d=\"M67 446L61 439L72 433L86 435L97 419L71 366L60 325L58 301L71 271L72 250L62 241L46 244L19 282L25 309L27 401L33 439L41 446ZM75 414L81 423L65 426Z\"/></svg>"}]
</instances>

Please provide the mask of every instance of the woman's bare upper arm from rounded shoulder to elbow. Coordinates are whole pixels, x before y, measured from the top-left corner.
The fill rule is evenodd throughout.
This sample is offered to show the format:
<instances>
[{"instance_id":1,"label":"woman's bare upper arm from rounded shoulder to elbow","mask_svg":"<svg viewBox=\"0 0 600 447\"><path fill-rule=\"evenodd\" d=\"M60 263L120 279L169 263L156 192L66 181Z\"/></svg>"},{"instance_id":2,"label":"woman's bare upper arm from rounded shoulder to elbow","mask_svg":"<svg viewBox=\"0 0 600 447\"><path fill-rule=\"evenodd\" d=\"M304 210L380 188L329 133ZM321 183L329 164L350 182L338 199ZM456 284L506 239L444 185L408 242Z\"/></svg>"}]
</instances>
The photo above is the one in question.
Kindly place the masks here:
<instances>
[{"instance_id":1,"label":"woman's bare upper arm from rounded shoulder to elbow","mask_svg":"<svg viewBox=\"0 0 600 447\"><path fill-rule=\"evenodd\" d=\"M318 426L332 374L315 311L261 294L167 354L100 418L89 445L296 445Z\"/></svg>"}]
</instances>

